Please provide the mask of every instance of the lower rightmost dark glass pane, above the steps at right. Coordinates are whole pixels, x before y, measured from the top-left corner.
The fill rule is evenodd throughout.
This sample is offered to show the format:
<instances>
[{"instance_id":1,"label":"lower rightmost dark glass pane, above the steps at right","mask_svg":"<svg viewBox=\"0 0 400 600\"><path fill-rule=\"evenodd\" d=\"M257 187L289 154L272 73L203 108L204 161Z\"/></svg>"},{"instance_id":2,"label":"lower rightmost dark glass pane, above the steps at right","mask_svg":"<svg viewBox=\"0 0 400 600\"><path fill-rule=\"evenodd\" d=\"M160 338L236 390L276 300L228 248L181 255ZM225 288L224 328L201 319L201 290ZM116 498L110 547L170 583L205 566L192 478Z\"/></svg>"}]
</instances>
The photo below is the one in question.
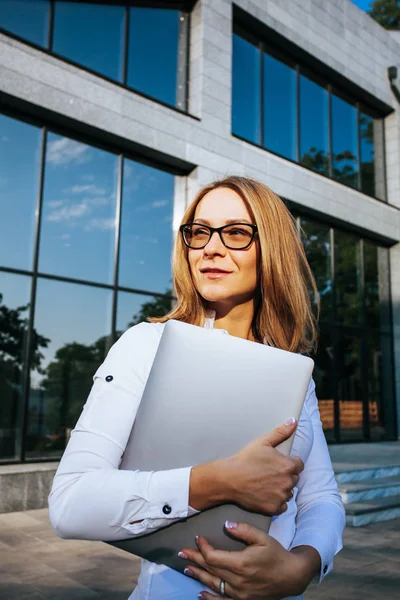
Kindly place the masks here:
<instances>
[{"instance_id":1,"label":"lower rightmost dark glass pane, above the steps at right","mask_svg":"<svg viewBox=\"0 0 400 600\"><path fill-rule=\"evenodd\" d=\"M393 439L395 402L393 397L393 360L390 336L367 336L367 388L371 439Z\"/></svg>"}]
</instances>

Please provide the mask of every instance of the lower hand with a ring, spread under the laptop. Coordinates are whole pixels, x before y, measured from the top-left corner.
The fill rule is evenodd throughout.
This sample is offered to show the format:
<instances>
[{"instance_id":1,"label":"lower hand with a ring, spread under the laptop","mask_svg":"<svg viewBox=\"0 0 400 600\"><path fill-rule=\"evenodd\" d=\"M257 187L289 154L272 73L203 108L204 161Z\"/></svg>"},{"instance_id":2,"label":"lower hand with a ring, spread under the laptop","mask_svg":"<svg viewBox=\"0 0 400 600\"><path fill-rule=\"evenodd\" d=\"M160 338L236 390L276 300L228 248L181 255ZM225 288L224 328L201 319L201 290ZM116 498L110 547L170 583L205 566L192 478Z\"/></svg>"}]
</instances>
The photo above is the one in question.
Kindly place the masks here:
<instances>
[{"instance_id":1,"label":"lower hand with a ring, spread under the laptop","mask_svg":"<svg viewBox=\"0 0 400 600\"><path fill-rule=\"evenodd\" d=\"M236 527L227 527L227 531L246 542L247 547L236 552L215 550L205 538L199 536L196 540L198 552L183 548L183 556L179 553L181 558L186 555L196 565L187 566L187 575L201 581L217 594L223 580L223 597L234 600L280 600L304 591L308 584L307 575L304 577L304 556L285 550L273 537L251 525L233 525ZM315 571L315 565L312 571ZM221 596L204 591L199 597L211 600Z\"/></svg>"}]
</instances>

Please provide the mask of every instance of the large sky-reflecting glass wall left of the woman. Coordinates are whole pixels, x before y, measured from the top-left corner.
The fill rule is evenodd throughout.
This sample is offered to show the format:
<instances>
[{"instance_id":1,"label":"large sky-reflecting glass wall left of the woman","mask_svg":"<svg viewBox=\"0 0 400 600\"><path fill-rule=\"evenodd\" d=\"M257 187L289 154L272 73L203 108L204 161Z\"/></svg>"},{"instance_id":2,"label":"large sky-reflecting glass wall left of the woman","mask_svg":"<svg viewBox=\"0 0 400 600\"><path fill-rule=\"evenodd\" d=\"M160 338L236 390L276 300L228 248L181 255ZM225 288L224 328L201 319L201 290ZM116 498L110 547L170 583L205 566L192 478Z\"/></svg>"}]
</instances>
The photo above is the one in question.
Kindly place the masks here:
<instances>
[{"instance_id":1,"label":"large sky-reflecting glass wall left of the woman","mask_svg":"<svg viewBox=\"0 0 400 600\"><path fill-rule=\"evenodd\" d=\"M170 310L175 177L9 116L0 140L0 461L57 459L111 344Z\"/></svg>"}]
</instances>

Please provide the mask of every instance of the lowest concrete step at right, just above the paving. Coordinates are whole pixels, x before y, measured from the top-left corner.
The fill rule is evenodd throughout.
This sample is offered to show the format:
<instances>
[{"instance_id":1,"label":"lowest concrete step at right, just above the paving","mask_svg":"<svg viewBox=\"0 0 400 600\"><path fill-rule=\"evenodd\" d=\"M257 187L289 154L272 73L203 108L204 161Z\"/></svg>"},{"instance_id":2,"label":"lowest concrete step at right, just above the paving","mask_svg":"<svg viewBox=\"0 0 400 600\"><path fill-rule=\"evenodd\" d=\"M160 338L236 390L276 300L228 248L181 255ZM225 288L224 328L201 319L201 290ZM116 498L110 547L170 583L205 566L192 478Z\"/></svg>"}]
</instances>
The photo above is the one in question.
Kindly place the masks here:
<instances>
[{"instance_id":1,"label":"lowest concrete step at right, just above the paving","mask_svg":"<svg viewBox=\"0 0 400 600\"><path fill-rule=\"evenodd\" d=\"M400 517L400 494L362 502L351 502L345 505L345 509L346 524L352 527L397 519Z\"/></svg>"}]
</instances>

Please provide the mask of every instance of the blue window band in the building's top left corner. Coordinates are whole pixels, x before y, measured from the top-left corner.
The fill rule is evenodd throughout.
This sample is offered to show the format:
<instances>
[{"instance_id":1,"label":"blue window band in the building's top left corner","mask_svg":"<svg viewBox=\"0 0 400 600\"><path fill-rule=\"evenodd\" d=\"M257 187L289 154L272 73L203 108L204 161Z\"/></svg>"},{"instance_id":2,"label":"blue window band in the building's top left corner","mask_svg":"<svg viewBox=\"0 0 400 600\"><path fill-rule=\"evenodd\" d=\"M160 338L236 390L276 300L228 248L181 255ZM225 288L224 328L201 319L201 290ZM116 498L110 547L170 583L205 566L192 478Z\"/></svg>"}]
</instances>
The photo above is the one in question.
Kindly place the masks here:
<instances>
[{"instance_id":1,"label":"blue window band in the building's top left corner","mask_svg":"<svg viewBox=\"0 0 400 600\"><path fill-rule=\"evenodd\" d=\"M189 15L132 4L0 0L0 28L186 111Z\"/></svg>"}]
</instances>

